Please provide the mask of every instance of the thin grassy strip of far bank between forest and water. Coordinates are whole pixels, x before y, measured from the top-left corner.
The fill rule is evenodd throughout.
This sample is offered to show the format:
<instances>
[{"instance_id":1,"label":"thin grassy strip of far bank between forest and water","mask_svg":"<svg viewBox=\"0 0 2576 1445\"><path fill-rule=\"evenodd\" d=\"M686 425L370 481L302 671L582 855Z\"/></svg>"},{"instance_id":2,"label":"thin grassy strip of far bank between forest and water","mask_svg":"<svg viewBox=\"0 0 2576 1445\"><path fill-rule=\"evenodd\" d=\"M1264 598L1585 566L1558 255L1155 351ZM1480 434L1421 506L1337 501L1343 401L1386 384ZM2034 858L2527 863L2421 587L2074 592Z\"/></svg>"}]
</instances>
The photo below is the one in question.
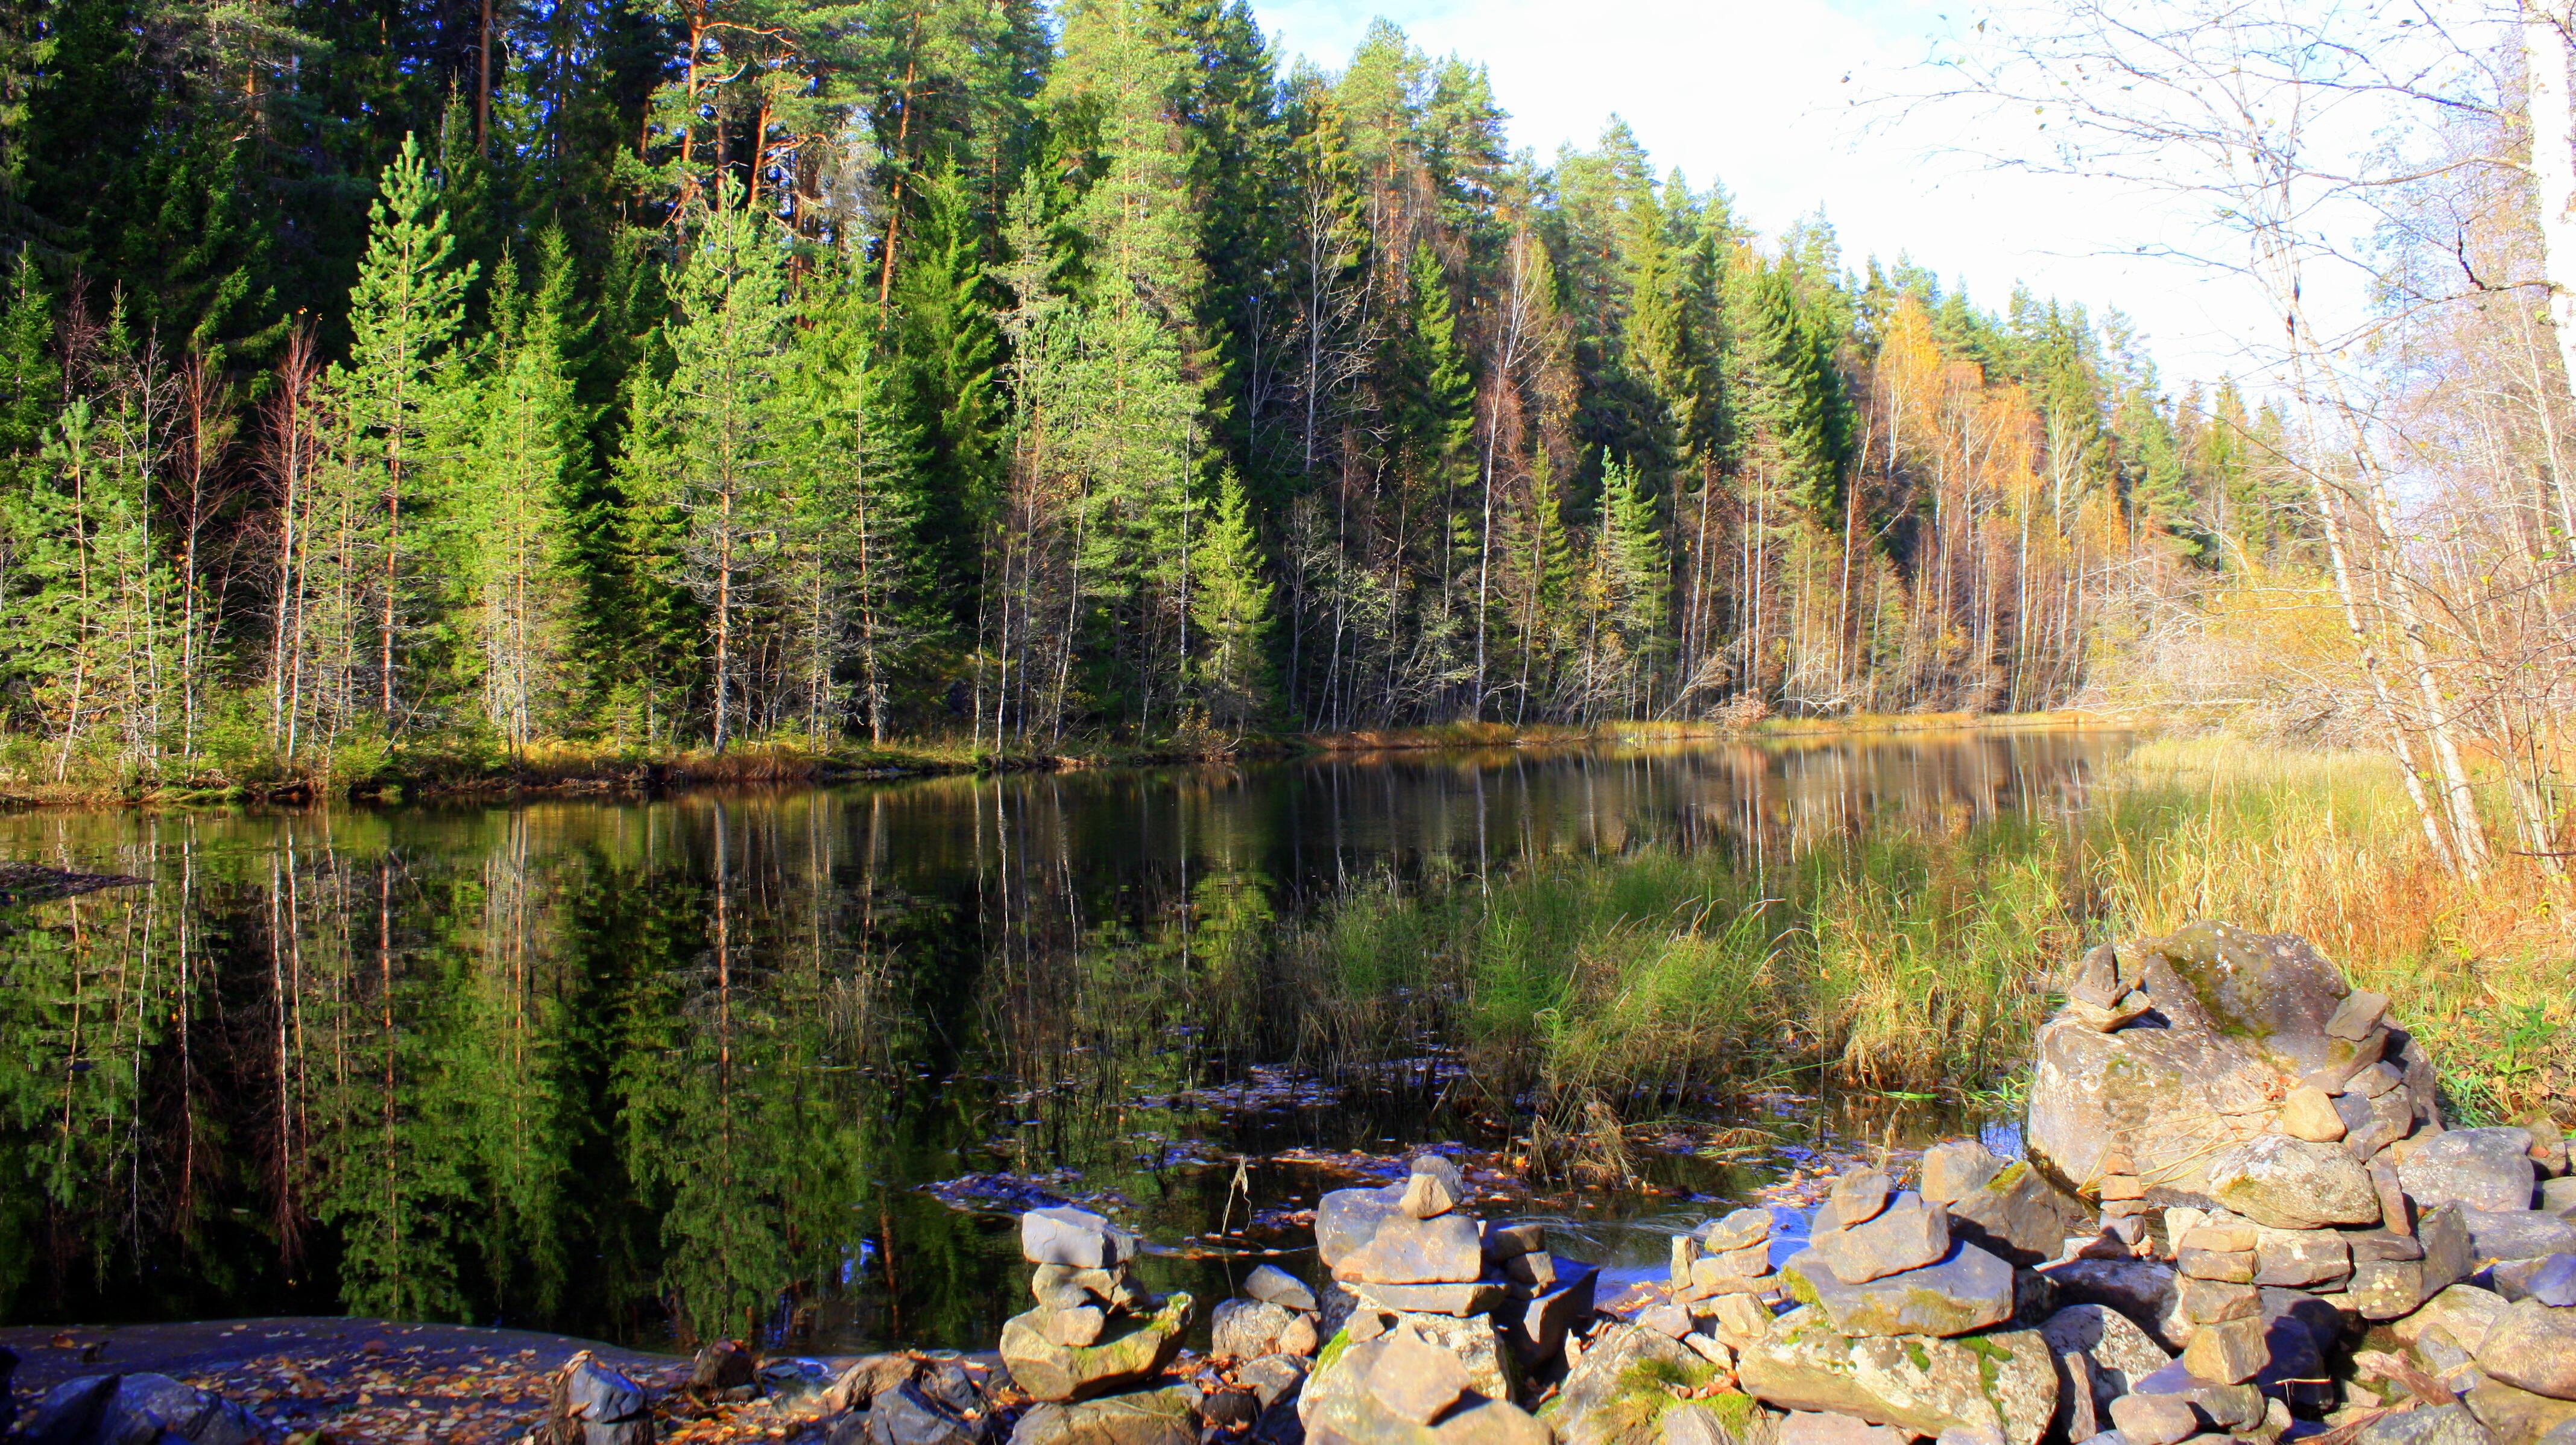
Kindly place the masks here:
<instances>
[{"instance_id":1,"label":"thin grassy strip of far bank between forest and water","mask_svg":"<svg viewBox=\"0 0 2576 1445\"><path fill-rule=\"evenodd\" d=\"M1242 734L1211 744L1100 742L1061 752L976 752L953 739L912 739L886 747L811 752L788 742L757 742L726 755L711 752L585 752L544 750L515 762L420 757L376 775L332 783L325 778L224 778L137 783L28 783L0 778L0 811L41 809L224 809L224 806L330 806L417 804L474 798L654 798L726 786L829 788L902 778L963 773L1082 773L1097 768L1177 768L1216 762L1278 762L1291 757L1350 757L1365 752L1484 752L1543 747L1651 747L1680 742L1837 742L1911 734L1991 732L2133 732L2148 719L2045 711L2045 713L1860 713L1844 719L1765 719L1752 726L1705 721L1613 724L1430 724L1404 729Z\"/></svg>"}]
</instances>

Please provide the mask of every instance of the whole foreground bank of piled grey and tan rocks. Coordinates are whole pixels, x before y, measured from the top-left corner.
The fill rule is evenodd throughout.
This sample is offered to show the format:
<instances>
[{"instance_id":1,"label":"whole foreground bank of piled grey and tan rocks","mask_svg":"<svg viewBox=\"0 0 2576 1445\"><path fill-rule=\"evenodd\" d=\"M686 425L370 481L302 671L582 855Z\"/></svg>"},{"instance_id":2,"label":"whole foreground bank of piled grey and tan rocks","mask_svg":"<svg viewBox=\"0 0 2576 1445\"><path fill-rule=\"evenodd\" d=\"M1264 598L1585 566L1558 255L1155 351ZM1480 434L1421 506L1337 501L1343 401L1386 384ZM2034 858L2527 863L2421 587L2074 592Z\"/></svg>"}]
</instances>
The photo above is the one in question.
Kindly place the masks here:
<instances>
[{"instance_id":1,"label":"whole foreground bank of piled grey and tan rocks","mask_svg":"<svg viewBox=\"0 0 2576 1445\"><path fill-rule=\"evenodd\" d=\"M582 1352L520 1437L2576 1445L2555 1123L2455 1128L2388 999L2295 938L2195 925L2097 948L2061 987L2022 1159L1953 1141L1847 1169L1808 1218L1708 1218L1620 1301L1543 1226L1476 1218L1422 1154L1321 1195L1319 1272L1255 1267L1206 1311L1203 1355L1198 1301L1141 1288L1131 1231L1041 1208L1020 1216L1030 1308L992 1355L824 1370L719 1345L644 1381ZM5 1419L39 1445L286 1435L155 1373L15 1409L0 1386Z\"/></svg>"}]
</instances>

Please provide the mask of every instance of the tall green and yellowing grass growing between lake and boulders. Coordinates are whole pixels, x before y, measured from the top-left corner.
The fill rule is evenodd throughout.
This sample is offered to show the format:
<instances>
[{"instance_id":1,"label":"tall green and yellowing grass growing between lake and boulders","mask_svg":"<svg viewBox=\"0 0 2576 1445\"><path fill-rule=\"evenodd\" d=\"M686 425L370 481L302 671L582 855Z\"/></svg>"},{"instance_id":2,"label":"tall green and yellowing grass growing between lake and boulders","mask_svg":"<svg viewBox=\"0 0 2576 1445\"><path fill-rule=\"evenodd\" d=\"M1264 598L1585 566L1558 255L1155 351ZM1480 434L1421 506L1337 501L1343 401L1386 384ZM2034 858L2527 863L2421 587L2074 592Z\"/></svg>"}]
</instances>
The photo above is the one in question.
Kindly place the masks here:
<instances>
[{"instance_id":1,"label":"tall green and yellowing grass growing between lake and boulders","mask_svg":"<svg viewBox=\"0 0 2576 1445\"><path fill-rule=\"evenodd\" d=\"M2566 883L2447 878L2396 783L2365 755L2151 742L2050 822L1875 829L1770 871L1649 847L1373 889L1283 948L1329 1048L1458 1038L1504 1097L1821 1072L1991 1100L2063 958L2215 917L2388 989L2458 1108L2522 1115L2576 1077Z\"/></svg>"}]
</instances>

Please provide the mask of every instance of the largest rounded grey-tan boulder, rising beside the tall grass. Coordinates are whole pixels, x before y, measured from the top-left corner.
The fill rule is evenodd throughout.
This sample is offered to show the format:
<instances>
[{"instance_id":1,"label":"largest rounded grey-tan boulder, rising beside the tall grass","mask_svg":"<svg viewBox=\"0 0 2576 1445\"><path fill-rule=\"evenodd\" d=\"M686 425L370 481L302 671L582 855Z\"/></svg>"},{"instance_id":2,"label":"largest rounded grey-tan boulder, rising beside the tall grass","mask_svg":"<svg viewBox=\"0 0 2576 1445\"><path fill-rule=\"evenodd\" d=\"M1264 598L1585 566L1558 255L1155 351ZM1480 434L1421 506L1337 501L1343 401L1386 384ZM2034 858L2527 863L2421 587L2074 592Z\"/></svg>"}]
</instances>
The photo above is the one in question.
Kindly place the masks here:
<instances>
[{"instance_id":1,"label":"largest rounded grey-tan boulder, rising beside the tall grass","mask_svg":"<svg viewBox=\"0 0 2576 1445\"><path fill-rule=\"evenodd\" d=\"M2269 1128L2287 1079L2383 1051L2429 1097L2414 1043L2378 1025L2360 1041L2329 1033L2352 989L2298 938L2197 922L2115 953L2115 987L2141 992L2151 1012L2105 1033L2079 1007L2061 1010L2040 1028L2030 1082L2030 1157L2079 1193L2094 1193L2105 1157L2125 1146L2148 1200L2210 1203L2210 1159Z\"/></svg>"}]
</instances>

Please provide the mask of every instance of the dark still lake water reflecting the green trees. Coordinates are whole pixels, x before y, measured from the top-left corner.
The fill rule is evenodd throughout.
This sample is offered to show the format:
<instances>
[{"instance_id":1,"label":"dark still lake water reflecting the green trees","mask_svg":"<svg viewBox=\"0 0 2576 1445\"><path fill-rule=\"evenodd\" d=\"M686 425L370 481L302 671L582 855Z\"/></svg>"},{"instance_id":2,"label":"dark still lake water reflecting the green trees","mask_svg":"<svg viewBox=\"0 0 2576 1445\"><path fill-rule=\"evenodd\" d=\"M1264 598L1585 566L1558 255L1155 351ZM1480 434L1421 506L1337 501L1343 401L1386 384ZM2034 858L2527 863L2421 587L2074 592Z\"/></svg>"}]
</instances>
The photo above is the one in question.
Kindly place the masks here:
<instances>
[{"instance_id":1,"label":"dark still lake water reflecting the green trees","mask_svg":"<svg viewBox=\"0 0 2576 1445\"><path fill-rule=\"evenodd\" d=\"M1273 950L1296 920L1638 847L1759 878L1878 829L2071 806L2123 747L5 817L0 858L142 883L0 914L0 1321L984 1345L1020 1308L1010 1213L1064 1198L1139 1223L1157 1288L1224 1293L1247 1249L1306 1244L1319 1190L1515 1128L1461 1090L1453 1041L1319 1053ZM1744 1110L1646 1138L1620 1187L1517 1208L1651 1270L1664 1231L1801 1149L1950 1123L1785 1092Z\"/></svg>"}]
</instances>

